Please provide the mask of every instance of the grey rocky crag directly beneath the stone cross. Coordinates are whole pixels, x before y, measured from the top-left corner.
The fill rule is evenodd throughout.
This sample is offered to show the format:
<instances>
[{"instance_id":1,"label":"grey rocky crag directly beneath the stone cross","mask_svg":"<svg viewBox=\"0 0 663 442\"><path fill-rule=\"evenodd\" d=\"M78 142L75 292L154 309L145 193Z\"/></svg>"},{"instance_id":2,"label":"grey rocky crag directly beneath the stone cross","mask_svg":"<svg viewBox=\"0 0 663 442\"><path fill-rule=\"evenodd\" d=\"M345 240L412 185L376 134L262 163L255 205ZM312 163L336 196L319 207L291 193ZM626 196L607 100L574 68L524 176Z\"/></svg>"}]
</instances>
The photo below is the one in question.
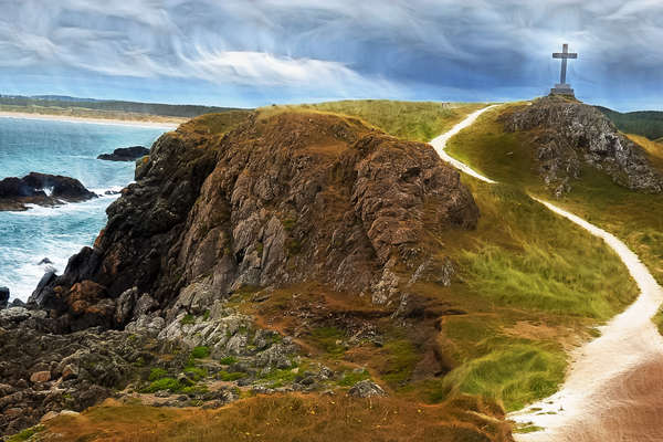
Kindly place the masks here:
<instances>
[{"instance_id":1,"label":"grey rocky crag directly beneath the stone cross","mask_svg":"<svg viewBox=\"0 0 663 442\"><path fill-rule=\"evenodd\" d=\"M583 165L629 189L663 191L663 175L649 164L644 150L593 106L545 97L503 119L508 131L532 131L539 146L539 172L558 196L570 189L570 180L580 177Z\"/></svg>"}]
</instances>

